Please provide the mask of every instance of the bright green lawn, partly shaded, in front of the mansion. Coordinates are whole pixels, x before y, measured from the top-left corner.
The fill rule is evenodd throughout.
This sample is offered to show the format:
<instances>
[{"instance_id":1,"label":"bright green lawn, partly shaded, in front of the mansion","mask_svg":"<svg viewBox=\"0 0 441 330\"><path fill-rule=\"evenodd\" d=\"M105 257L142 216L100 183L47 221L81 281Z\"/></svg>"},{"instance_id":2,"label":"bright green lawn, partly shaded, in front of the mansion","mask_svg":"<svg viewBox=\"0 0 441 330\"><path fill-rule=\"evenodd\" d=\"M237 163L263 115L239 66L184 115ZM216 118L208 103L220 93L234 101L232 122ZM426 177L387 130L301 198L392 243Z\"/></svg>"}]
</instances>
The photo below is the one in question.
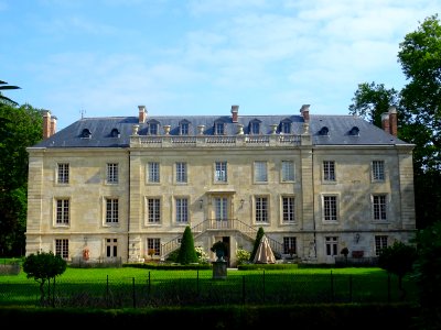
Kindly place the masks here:
<instances>
[{"instance_id":1,"label":"bright green lawn, partly shaded, in front of the mansion","mask_svg":"<svg viewBox=\"0 0 441 330\"><path fill-rule=\"evenodd\" d=\"M408 295L416 300L410 277ZM377 267L162 271L135 267L71 268L56 277L58 304L75 306L399 301L396 276ZM39 284L26 274L0 276L0 306L39 304ZM110 302L109 302L110 301Z\"/></svg>"}]
</instances>

